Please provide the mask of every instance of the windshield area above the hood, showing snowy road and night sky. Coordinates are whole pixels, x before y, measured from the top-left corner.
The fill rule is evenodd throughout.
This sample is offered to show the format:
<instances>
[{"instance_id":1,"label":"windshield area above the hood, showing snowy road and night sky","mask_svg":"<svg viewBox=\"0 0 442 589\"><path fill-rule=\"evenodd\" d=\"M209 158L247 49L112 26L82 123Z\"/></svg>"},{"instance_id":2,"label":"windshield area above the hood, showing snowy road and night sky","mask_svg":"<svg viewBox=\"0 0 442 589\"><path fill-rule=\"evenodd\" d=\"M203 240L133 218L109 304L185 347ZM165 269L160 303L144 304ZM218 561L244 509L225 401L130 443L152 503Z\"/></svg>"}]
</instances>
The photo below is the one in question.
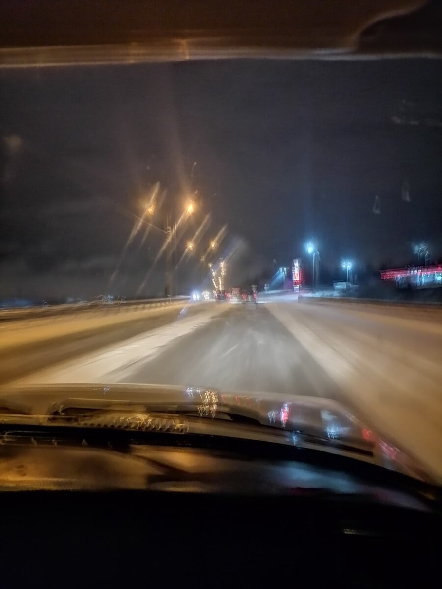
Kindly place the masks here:
<instances>
[{"instance_id":1,"label":"windshield area above the hood, showing snowy road and night sky","mask_svg":"<svg viewBox=\"0 0 442 589\"><path fill-rule=\"evenodd\" d=\"M281 421L332 399L442 477L439 59L0 84L8 398L176 385L281 399Z\"/></svg>"}]
</instances>

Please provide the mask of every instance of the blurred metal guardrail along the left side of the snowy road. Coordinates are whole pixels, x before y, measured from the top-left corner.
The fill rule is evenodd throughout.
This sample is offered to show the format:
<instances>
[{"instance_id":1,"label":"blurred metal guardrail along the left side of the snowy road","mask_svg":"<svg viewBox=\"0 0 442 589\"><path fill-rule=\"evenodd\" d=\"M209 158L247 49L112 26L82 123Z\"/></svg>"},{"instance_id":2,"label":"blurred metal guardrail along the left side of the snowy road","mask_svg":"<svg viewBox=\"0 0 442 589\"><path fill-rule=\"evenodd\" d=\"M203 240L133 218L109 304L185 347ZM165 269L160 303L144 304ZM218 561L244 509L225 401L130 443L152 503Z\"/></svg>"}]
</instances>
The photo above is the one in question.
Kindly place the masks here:
<instances>
[{"instance_id":1,"label":"blurred metal guardrail along the left side of the snowy road","mask_svg":"<svg viewBox=\"0 0 442 589\"><path fill-rule=\"evenodd\" d=\"M90 311L100 311L104 313L141 311L150 308L154 309L155 307L175 305L176 303L186 302L189 299L190 297L188 296L177 296L173 298L167 297L164 299L128 300L124 302L116 301L113 303L90 302L75 303L73 305L46 305L41 307L25 307L21 309L1 309L0 322L24 319L42 319L45 317L72 315Z\"/></svg>"}]
</instances>

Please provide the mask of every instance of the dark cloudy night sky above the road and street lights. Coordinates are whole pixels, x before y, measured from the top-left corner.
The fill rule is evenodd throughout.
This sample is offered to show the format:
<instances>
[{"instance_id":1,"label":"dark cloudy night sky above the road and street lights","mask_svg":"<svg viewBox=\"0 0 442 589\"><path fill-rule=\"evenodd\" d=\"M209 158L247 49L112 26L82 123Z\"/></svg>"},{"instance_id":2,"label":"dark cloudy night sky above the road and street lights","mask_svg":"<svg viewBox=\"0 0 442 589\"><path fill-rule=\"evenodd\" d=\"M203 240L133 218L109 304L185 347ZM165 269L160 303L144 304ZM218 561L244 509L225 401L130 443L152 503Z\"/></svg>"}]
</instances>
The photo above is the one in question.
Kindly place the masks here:
<instances>
[{"instance_id":1,"label":"dark cloudy night sky above the road and street lights","mask_svg":"<svg viewBox=\"0 0 442 589\"><path fill-rule=\"evenodd\" d=\"M104 292L156 182L161 226L197 191L182 241L206 213L204 244L228 224L232 282L288 266L308 239L331 272L412 262L413 241L442 254L438 59L2 70L0 141L0 297ZM128 249L117 293L134 295L161 239ZM191 287L194 260L180 273Z\"/></svg>"}]
</instances>

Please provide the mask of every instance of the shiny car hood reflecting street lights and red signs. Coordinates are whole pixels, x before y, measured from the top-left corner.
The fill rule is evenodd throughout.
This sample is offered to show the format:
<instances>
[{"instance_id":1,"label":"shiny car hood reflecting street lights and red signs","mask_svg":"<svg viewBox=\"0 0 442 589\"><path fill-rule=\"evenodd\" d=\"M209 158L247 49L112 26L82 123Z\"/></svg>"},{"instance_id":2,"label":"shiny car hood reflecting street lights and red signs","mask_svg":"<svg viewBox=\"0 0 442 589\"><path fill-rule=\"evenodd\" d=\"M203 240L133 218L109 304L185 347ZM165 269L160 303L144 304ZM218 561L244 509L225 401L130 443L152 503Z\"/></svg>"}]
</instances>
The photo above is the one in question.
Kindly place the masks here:
<instances>
[{"instance_id":1,"label":"shiny car hood reflecting street lights and red signs","mask_svg":"<svg viewBox=\"0 0 442 589\"><path fill-rule=\"evenodd\" d=\"M246 420L282 432L312 436L327 442L327 451L340 447L370 448L370 461L427 482L434 482L415 459L367 426L346 405L334 399L277 394L221 393L197 387L127 384L48 384L4 389L0 415L50 416L66 408L115 411L179 411L201 418ZM8 419L10 422L10 419ZM266 432L269 429L266 429ZM276 431L275 431L276 433ZM342 442L340 446L339 443ZM359 458L359 456L357 456Z\"/></svg>"}]
</instances>

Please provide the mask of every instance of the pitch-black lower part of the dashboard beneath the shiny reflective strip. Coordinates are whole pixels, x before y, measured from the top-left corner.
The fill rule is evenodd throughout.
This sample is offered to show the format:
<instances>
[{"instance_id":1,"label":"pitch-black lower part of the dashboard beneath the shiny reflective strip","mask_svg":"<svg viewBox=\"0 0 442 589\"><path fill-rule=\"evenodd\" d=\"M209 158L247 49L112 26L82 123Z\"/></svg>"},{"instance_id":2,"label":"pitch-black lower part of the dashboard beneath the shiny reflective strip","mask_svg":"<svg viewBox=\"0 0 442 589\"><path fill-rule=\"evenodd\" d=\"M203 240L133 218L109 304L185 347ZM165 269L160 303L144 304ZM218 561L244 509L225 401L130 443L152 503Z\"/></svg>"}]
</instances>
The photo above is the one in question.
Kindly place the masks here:
<instances>
[{"instance_id":1,"label":"pitch-black lower part of the dashboard beneath the shiny reflective strip","mask_svg":"<svg viewBox=\"0 0 442 589\"><path fill-rule=\"evenodd\" d=\"M282 497L36 491L2 502L4 587L36 578L87 587L294 578L313 587L430 587L438 577L440 526L430 514L359 499L296 489Z\"/></svg>"}]
</instances>

